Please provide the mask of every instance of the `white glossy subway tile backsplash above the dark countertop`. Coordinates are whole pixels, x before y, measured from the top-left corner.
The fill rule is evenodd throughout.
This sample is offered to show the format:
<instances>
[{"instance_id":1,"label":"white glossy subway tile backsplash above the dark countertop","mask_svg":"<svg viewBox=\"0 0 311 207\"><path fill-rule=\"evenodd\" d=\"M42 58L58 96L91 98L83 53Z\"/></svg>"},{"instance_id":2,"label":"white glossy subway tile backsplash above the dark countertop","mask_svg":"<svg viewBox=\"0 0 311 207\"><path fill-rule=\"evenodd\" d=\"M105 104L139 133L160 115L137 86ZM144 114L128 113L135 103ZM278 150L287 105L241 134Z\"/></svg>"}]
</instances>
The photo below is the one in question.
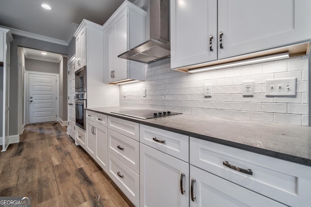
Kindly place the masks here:
<instances>
[{"instance_id":1,"label":"white glossy subway tile backsplash above the dark countertop","mask_svg":"<svg viewBox=\"0 0 311 207\"><path fill-rule=\"evenodd\" d=\"M120 85L120 105L308 126L308 64L306 55L187 74L172 70L165 59L146 65L146 81ZM265 80L278 78L297 78L296 96L265 96ZM247 80L254 80L252 97L242 96ZM212 84L212 96L203 96L204 84Z\"/></svg>"}]
</instances>

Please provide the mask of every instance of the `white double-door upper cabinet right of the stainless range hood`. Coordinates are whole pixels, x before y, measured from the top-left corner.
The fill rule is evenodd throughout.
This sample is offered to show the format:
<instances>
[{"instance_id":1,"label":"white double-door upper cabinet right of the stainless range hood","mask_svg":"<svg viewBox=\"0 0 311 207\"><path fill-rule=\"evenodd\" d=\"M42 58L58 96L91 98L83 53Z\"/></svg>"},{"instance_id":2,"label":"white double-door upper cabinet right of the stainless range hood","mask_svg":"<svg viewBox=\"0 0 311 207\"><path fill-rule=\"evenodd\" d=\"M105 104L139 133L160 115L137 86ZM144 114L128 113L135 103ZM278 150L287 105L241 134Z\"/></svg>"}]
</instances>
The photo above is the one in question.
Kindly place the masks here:
<instances>
[{"instance_id":1,"label":"white double-door upper cabinet right of the stainless range hood","mask_svg":"<svg viewBox=\"0 0 311 207\"><path fill-rule=\"evenodd\" d=\"M171 67L311 41L310 8L310 0L172 0Z\"/></svg>"}]
</instances>

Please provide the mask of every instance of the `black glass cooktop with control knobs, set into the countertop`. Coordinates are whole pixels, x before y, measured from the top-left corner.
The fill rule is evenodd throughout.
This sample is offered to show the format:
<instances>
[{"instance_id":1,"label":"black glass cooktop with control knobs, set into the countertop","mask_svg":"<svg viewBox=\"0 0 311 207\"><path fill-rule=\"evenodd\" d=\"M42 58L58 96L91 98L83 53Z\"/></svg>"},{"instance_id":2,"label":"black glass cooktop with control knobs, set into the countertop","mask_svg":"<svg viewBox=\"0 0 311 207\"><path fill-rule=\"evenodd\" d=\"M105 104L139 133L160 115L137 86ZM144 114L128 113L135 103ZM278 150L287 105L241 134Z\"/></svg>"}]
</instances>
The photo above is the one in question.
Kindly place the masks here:
<instances>
[{"instance_id":1,"label":"black glass cooktop with control knobs, set into the countertop","mask_svg":"<svg viewBox=\"0 0 311 207\"><path fill-rule=\"evenodd\" d=\"M111 111L111 113L116 113L116 114L125 115L125 116L131 116L131 117L135 117L138 119L151 119L151 118L181 114L181 113L171 112L171 111L155 111L155 110L147 110L147 109Z\"/></svg>"}]
</instances>

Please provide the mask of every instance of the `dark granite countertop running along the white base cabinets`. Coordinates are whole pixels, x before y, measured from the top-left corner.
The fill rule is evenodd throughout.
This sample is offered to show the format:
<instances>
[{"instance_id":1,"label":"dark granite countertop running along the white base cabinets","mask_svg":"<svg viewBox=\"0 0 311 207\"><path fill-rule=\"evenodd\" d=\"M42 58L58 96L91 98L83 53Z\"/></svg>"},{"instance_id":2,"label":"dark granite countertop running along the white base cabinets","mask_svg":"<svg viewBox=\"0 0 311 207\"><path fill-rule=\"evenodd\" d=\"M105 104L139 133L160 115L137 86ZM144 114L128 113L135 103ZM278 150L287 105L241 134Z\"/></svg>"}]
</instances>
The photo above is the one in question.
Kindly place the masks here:
<instances>
[{"instance_id":1,"label":"dark granite countertop running along the white base cabinets","mask_svg":"<svg viewBox=\"0 0 311 207\"><path fill-rule=\"evenodd\" d=\"M104 107L87 110L311 166L311 127L193 114L143 120L111 113L130 109Z\"/></svg>"}]
</instances>

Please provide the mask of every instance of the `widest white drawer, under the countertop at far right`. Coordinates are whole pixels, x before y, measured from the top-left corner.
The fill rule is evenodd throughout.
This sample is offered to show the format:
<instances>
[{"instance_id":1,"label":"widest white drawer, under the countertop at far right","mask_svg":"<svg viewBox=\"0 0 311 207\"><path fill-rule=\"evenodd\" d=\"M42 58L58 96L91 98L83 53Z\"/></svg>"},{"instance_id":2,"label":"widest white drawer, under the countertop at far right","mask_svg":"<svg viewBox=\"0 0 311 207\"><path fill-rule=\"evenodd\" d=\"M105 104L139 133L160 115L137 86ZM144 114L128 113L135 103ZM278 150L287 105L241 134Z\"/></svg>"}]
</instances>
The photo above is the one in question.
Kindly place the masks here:
<instances>
[{"instance_id":1,"label":"widest white drawer, under the countertop at far right","mask_svg":"<svg viewBox=\"0 0 311 207\"><path fill-rule=\"evenodd\" d=\"M311 206L311 167L192 137L190 164L283 204Z\"/></svg>"}]
</instances>

